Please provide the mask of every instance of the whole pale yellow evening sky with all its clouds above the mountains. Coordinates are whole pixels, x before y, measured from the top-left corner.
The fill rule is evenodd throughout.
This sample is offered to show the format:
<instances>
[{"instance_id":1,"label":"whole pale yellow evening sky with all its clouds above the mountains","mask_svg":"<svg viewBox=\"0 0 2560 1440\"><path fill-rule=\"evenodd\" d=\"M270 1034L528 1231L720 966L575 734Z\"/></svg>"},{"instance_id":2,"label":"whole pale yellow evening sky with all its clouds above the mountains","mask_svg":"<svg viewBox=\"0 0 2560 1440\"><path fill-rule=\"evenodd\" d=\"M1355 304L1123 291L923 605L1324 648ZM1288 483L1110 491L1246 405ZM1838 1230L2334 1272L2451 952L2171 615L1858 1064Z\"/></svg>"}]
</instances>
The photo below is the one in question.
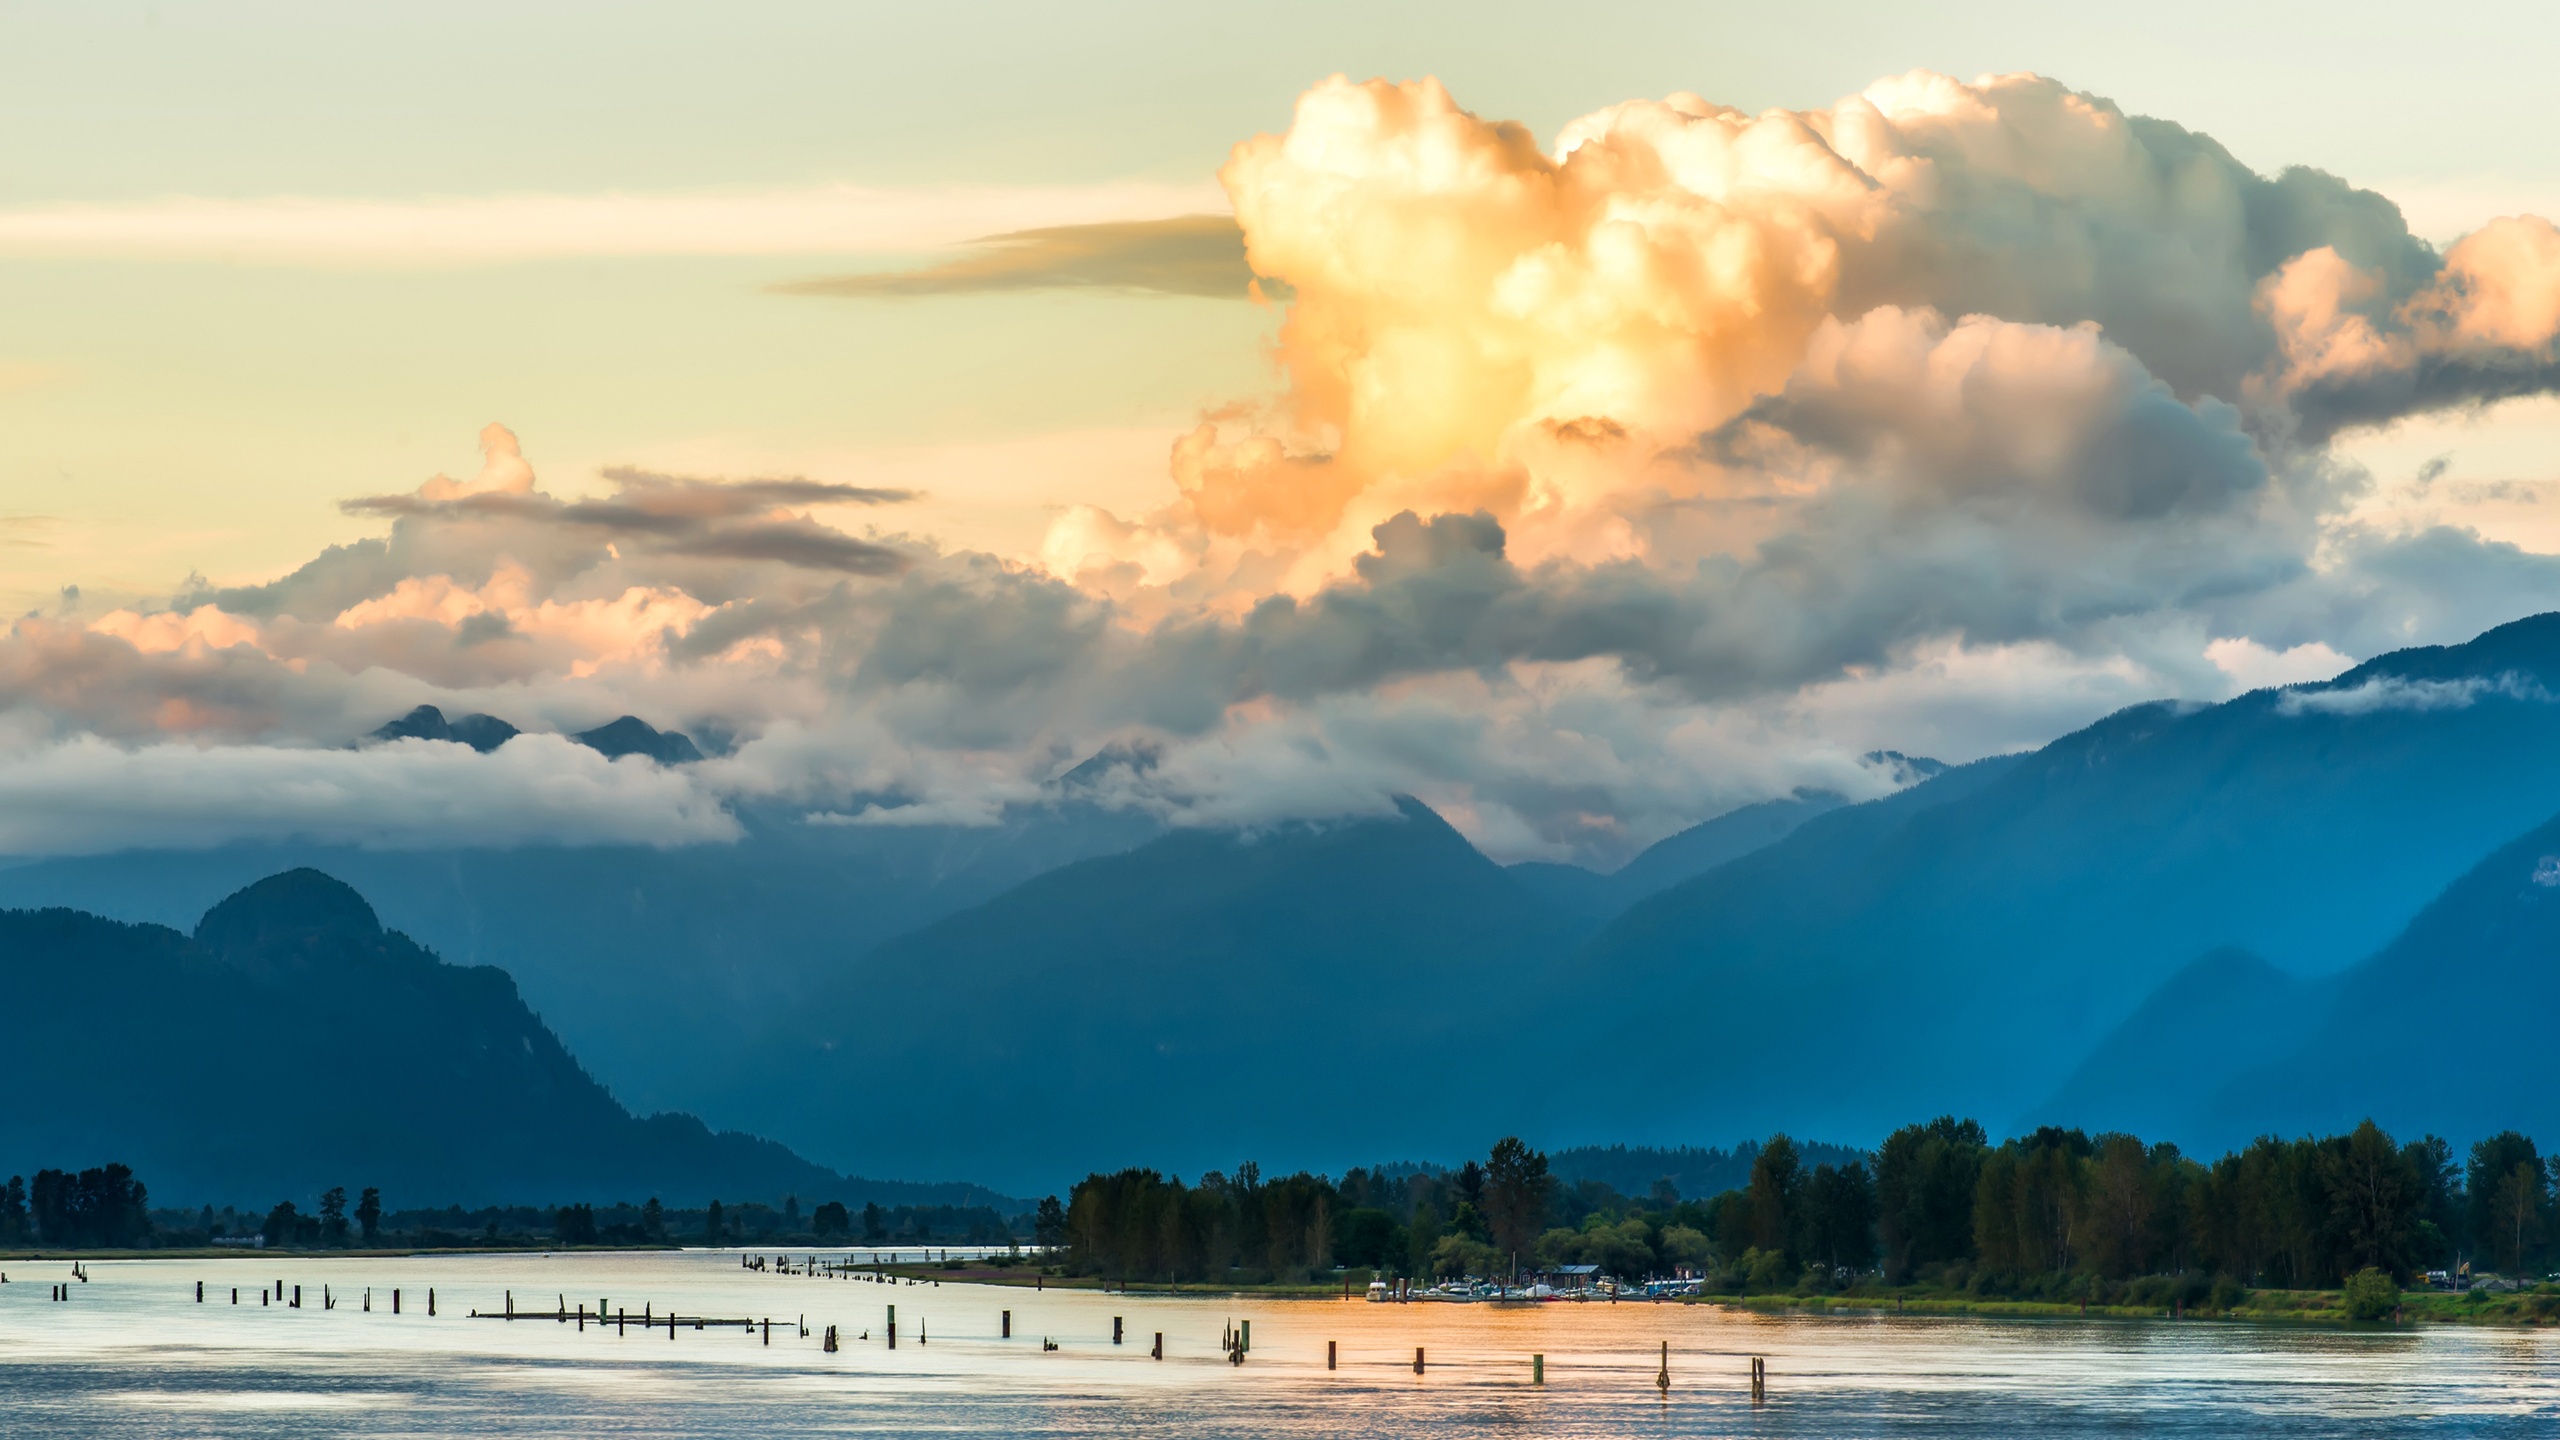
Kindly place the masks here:
<instances>
[{"instance_id":1,"label":"whole pale yellow evening sky with all its clouds above the mountains","mask_svg":"<svg viewBox=\"0 0 2560 1440\"><path fill-rule=\"evenodd\" d=\"M1116 746L1615 863L2463 638L2560 602L2555 26L5 5L0 851ZM348 748L417 702L724 753Z\"/></svg>"}]
</instances>

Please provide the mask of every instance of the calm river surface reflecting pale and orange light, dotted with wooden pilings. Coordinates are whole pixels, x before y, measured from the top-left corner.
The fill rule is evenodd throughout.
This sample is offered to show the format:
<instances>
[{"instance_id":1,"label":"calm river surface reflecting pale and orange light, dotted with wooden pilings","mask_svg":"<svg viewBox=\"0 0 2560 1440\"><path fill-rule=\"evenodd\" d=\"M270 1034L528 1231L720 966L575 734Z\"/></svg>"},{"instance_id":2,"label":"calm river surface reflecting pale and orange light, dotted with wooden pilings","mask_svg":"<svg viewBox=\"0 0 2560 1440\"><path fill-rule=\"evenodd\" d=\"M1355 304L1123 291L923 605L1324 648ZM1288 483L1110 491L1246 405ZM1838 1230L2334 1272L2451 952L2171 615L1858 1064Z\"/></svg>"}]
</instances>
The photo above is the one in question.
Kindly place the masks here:
<instances>
[{"instance_id":1,"label":"calm river surface reflecting pale and orange light, dotted with wooden pilings","mask_svg":"<svg viewBox=\"0 0 2560 1440\"><path fill-rule=\"evenodd\" d=\"M1165 1299L753 1273L735 1250L105 1261L87 1266L87 1284L69 1281L69 1302L46 1299L67 1263L0 1268L0 1414L13 1437L2294 1437L2547 1435L2560 1422L2560 1340L2516 1330ZM302 1309L259 1304L276 1281L302 1286ZM320 1307L323 1286L335 1309ZM504 1309L509 1289L517 1309L566 1297L589 1312L673 1307L686 1322L668 1338L663 1325L471 1317ZM891 1304L896 1350L883 1345ZM1011 1340L998 1335L1006 1309ZM760 1325L694 1330L696 1314L771 1317L771 1345ZM1111 1345L1114 1317L1124 1345ZM1236 1368L1219 1340L1242 1320L1252 1355ZM822 1353L827 1325L845 1340L835 1355ZM1155 1332L1162 1363L1149 1358ZM1044 1353L1044 1338L1060 1348ZM1669 1396L1654 1389L1661 1343ZM1533 1353L1546 1355L1544 1386L1528 1384ZM1769 1361L1761 1409L1748 1402L1751 1355Z\"/></svg>"}]
</instances>

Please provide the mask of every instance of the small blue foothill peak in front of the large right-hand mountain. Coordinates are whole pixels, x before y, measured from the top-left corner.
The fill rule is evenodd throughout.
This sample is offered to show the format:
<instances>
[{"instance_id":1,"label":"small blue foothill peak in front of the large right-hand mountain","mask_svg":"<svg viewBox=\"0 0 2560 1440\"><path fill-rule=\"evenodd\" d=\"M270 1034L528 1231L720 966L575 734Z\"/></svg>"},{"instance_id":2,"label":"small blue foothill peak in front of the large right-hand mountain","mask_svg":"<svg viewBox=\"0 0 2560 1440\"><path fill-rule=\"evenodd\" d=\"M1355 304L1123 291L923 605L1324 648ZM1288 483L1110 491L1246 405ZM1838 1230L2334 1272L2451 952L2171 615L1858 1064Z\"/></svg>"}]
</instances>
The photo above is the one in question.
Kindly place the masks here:
<instances>
[{"instance_id":1,"label":"small blue foothill peak in front of the large right-hand mountain","mask_svg":"<svg viewBox=\"0 0 2560 1440\"><path fill-rule=\"evenodd\" d=\"M2199 956L2099 1040L2030 1120L2194 1135L2199 1109L2268 1056L2301 1045L2330 997L2330 981L2291 976L2248 951Z\"/></svg>"}]
</instances>

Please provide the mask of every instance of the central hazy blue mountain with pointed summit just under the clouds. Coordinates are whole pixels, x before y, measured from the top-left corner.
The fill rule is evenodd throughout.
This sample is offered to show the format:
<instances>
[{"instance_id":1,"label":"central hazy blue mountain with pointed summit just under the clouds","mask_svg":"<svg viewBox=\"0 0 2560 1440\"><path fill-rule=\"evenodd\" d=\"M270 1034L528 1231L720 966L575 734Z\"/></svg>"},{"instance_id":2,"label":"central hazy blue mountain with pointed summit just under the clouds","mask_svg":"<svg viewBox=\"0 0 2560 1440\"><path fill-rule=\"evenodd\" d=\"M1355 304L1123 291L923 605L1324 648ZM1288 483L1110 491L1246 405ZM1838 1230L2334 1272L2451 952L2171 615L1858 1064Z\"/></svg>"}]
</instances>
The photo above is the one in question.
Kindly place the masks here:
<instances>
[{"instance_id":1,"label":"central hazy blue mountain with pointed summit just under the clouds","mask_svg":"<svg viewBox=\"0 0 2560 1440\"><path fill-rule=\"evenodd\" d=\"M1623 1017L1551 986L1569 935L1418 802L1178 830L881 945L778 1027L763 1068L788 1084L742 1076L735 1112L819 1158L1016 1186L1480 1150L1518 1127L1549 1027Z\"/></svg>"}]
</instances>

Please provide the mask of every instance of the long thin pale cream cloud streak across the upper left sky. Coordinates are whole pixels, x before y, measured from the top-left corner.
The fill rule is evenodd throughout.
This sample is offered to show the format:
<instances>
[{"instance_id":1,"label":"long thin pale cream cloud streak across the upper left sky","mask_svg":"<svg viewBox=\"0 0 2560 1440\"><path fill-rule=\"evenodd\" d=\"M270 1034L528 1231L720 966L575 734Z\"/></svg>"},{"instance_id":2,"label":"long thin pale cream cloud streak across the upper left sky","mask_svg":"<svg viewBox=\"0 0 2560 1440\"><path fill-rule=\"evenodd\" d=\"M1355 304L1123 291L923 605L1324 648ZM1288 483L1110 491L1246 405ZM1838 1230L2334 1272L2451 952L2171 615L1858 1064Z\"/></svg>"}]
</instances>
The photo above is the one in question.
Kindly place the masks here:
<instances>
[{"instance_id":1,"label":"long thin pale cream cloud streak across the upper left sky","mask_svg":"<svg viewBox=\"0 0 2560 1440\"><path fill-rule=\"evenodd\" d=\"M911 254L973 236L1162 220L1221 205L1206 184L812 184L676 195L210 200L0 210L0 254L228 264L468 266L581 256Z\"/></svg>"}]
</instances>

